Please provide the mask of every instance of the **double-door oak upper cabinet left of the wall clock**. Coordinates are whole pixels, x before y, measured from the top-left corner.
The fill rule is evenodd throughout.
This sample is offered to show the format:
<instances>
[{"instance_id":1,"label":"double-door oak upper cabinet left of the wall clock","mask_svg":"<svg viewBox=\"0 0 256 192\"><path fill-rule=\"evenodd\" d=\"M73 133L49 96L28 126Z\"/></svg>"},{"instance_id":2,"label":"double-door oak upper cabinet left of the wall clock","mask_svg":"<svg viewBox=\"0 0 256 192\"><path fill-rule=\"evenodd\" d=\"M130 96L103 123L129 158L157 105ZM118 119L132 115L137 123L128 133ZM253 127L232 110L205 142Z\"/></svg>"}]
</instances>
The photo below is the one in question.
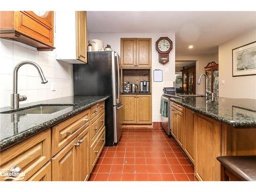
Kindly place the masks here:
<instances>
[{"instance_id":1,"label":"double-door oak upper cabinet left of the wall clock","mask_svg":"<svg viewBox=\"0 0 256 192\"><path fill-rule=\"evenodd\" d=\"M151 67L151 38L121 38L121 67Z\"/></svg>"}]
</instances>

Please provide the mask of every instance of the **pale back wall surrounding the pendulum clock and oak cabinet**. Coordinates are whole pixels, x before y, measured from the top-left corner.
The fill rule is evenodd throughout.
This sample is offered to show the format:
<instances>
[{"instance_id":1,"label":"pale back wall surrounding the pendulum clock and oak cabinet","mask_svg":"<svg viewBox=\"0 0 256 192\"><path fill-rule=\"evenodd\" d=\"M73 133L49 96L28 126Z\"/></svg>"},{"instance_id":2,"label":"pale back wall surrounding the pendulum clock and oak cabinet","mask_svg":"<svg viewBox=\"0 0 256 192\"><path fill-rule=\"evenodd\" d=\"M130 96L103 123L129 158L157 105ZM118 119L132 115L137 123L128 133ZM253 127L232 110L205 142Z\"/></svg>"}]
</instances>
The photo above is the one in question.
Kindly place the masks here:
<instances>
[{"instance_id":1,"label":"pale back wall surrounding the pendulum clock and oak cabinet","mask_svg":"<svg viewBox=\"0 0 256 192\"><path fill-rule=\"evenodd\" d=\"M111 45L120 54L120 38L140 37L152 38L152 77L155 69L163 70L163 82L153 82L152 78L152 121L161 121L160 102L164 87L173 87L175 81L175 33L89 33L89 39L101 39L104 46ZM159 37L169 37L173 41L173 50L169 54L169 62L162 65L158 62L156 41Z\"/></svg>"}]
</instances>

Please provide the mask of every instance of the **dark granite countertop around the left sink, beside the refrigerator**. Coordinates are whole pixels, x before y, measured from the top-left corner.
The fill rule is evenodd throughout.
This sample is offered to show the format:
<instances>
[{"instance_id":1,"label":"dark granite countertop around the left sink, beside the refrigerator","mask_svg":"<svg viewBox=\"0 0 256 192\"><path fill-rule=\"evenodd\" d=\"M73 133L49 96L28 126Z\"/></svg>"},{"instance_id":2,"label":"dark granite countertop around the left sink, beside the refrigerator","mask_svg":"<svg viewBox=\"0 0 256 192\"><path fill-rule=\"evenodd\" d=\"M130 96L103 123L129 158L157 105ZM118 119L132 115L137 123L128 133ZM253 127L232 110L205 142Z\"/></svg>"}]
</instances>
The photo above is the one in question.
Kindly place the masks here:
<instances>
[{"instance_id":1,"label":"dark granite countertop around the left sink, beside the refrigerator","mask_svg":"<svg viewBox=\"0 0 256 192\"><path fill-rule=\"evenodd\" d=\"M37 105L63 105L68 108L52 114L6 114L9 107L0 108L0 151L27 139L51 126L109 98L109 96L70 96L20 105L29 109ZM3 114L5 112L5 114Z\"/></svg>"}]
</instances>

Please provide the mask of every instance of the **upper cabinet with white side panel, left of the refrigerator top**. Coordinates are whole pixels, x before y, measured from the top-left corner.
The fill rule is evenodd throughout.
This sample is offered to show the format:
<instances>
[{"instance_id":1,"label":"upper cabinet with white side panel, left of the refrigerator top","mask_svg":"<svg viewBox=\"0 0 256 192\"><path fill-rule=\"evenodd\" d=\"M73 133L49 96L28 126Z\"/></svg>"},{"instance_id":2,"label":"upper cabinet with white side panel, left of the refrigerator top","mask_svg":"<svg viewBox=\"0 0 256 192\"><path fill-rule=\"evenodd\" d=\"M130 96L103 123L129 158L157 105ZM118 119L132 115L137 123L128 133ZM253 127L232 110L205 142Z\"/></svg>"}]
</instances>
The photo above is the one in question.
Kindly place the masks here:
<instances>
[{"instance_id":1,"label":"upper cabinet with white side panel, left of the refrigerator top","mask_svg":"<svg viewBox=\"0 0 256 192\"><path fill-rule=\"evenodd\" d=\"M87 63L86 11L55 11L54 45L56 59L72 63Z\"/></svg>"}]
</instances>

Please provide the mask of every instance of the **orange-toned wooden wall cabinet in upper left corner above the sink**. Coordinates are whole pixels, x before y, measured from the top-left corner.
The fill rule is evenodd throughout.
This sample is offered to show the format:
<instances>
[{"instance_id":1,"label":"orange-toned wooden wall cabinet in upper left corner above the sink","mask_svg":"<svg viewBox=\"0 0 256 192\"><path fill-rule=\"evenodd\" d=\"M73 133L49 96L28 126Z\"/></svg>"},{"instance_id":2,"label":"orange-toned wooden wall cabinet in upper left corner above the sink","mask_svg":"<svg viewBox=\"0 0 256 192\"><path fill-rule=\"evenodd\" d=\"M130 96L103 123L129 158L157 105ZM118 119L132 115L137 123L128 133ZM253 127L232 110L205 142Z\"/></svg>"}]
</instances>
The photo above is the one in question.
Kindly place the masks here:
<instances>
[{"instance_id":1,"label":"orange-toned wooden wall cabinet in upper left corner above the sink","mask_svg":"<svg viewBox=\"0 0 256 192\"><path fill-rule=\"evenodd\" d=\"M0 37L22 42L38 51L52 51L54 12L39 16L33 11L1 11Z\"/></svg>"}]
</instances>

